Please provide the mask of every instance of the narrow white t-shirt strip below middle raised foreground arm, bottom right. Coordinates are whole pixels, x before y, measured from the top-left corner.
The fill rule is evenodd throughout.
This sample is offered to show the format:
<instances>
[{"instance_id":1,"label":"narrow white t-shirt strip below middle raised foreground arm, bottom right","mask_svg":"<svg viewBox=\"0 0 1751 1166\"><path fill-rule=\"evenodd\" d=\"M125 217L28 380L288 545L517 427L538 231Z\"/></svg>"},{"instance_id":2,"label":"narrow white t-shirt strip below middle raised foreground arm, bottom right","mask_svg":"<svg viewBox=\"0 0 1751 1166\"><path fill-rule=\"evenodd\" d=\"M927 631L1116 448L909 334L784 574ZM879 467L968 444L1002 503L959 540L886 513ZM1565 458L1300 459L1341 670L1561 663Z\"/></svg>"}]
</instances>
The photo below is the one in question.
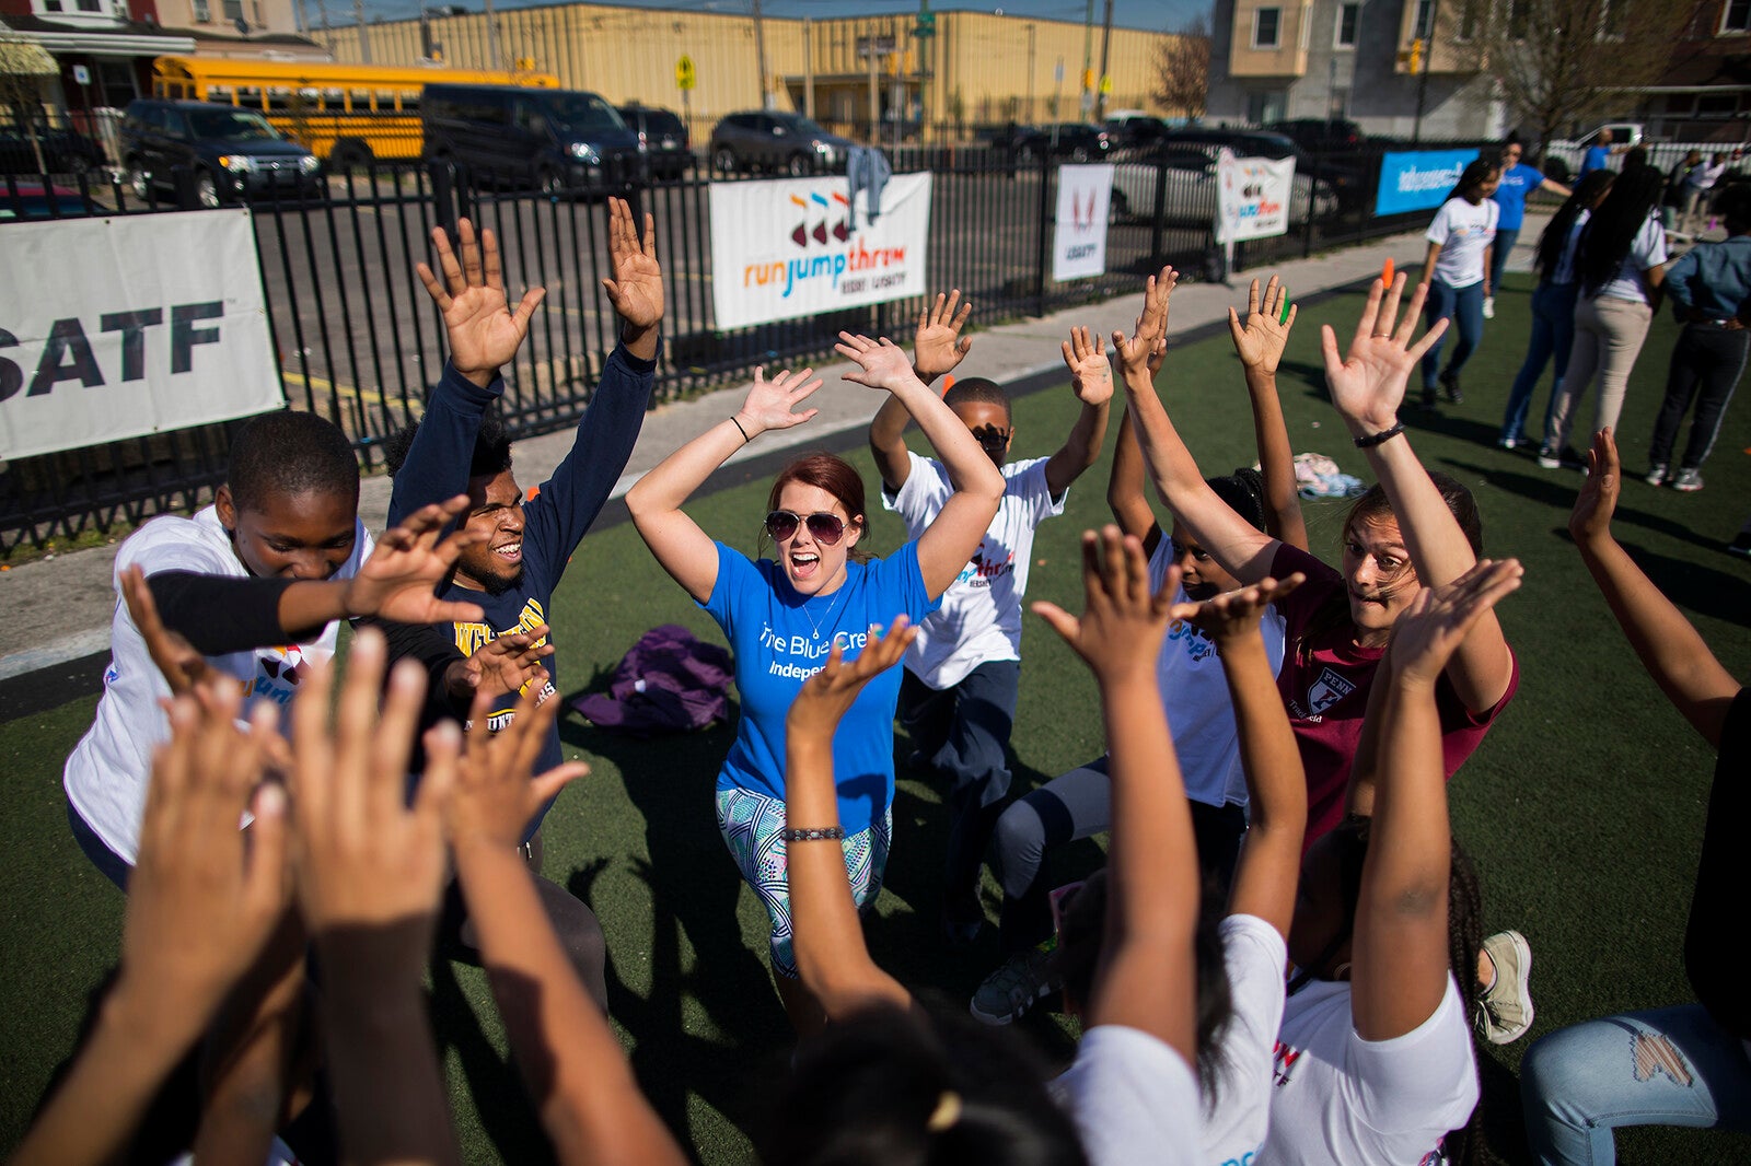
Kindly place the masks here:
<instances>
[{"instance_id":1,"label":"narrow white t-shirt strip below middle raised foreground arm, bottom right","mask_svg":"<svg viewBox=\"0 0 1751 1166\"><path fill-rule=\"evenodd\" d=\"M1205 1098L1203 1161L1241 1166L1264 1145L1271 1119L1271 1049L1289 954L1282 933L1257 916L1229 916L1219 935L1233 1014L1217 1045L1215 1096Z\"/></svg>"}]
</instances>

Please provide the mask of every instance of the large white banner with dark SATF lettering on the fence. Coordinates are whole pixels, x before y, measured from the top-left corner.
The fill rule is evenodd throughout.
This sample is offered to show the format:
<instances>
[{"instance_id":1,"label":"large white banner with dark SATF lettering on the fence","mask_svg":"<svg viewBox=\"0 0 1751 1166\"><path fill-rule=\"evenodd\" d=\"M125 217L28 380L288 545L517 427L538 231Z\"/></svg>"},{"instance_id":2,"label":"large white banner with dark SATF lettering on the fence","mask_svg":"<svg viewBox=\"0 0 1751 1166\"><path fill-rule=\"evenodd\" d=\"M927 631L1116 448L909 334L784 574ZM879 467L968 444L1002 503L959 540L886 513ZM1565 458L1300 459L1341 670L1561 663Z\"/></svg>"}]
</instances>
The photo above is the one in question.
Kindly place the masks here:
<instances>
[{"instance_id":1,"label":"large white banner with dark SATF lettering on the fence","mask_svg":"<svg viewBox=\"0 0 1751 1166\"><path fill-rule=\"evenodd\" d=\"M0 457L282 408L247 210L0 231Z\"/></svg>"}]
</instances>

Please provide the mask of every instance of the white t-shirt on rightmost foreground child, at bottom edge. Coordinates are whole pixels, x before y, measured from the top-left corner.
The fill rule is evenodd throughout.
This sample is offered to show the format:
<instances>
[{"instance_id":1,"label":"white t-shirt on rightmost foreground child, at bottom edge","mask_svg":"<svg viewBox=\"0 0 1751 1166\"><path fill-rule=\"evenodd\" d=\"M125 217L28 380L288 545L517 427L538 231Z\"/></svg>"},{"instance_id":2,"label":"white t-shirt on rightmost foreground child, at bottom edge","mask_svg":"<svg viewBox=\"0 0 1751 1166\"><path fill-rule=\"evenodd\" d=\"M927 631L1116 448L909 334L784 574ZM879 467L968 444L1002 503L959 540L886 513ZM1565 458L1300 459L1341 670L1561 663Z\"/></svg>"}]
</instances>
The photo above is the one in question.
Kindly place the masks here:
<instances>
[{"instance_id":1,"label":"white t-shirt on rightmost foreground child, at bottom edge","mask_svg":"<svg viewBox=\"0 0 1751 1166\"><path fill-rule=\"evenodd\" d=\"M1271 1127L1259 1161L1311 1166L1436 1166L1441 1143L1478 1105L1478 1063L1459 984L1392 1040L1362 1040L1350 986L1310 980L1283 1005Z\"/></svg>"}]
</instances>

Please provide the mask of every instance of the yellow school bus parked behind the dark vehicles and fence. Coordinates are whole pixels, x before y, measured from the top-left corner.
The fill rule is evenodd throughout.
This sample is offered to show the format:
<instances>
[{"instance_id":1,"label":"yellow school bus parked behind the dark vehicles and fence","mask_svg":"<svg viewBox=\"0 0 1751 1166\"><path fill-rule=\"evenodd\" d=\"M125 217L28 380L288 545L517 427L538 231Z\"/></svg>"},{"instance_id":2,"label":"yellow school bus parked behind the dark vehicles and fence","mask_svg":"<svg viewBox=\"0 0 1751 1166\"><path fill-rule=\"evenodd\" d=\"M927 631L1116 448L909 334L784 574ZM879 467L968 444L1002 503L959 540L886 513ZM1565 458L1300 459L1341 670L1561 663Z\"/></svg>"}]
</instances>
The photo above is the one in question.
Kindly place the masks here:
<instances>
[{"instance_id":1,"label":"yellow school bus parked behind the dark vehicles and fence","mask_svg":"<svg viewBox=\"0 0 1751 1166\"><path fill-rule=\"evenodd\" d=\"M191 56L161 56L152 65L154 96L252 109L333 168L417 159L424 145L420 91L440 82L559 88L559 77L531 68L492 72Z\"/></svg>"}]
</instances>

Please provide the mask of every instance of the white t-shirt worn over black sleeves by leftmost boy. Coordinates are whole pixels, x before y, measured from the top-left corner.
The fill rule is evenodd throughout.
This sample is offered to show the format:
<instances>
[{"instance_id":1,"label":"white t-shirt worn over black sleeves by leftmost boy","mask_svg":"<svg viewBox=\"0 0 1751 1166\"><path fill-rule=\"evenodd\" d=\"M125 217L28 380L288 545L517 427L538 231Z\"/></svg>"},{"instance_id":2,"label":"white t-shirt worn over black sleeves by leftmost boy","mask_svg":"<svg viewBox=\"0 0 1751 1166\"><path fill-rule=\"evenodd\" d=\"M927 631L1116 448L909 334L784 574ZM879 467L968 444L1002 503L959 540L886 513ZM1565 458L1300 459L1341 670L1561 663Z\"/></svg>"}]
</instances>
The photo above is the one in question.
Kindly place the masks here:
<instances>
[{"instance_id":1,"label":"white t-shirt worn over black sleeves by leftmost boy","mask_svg":"<svg viewBox=\"0 0 1751 1166\"><path fill-rule=\"evenodd\" d=\"M352 557L333 576L350 579L371 555L371 536L354 520ZM116 854L135 860L140 849L140 816L152 772L152 748L170 739L170 720L158 707L170 695L170 683L152 664L140 629L121 602L121 572L140 567L149 578L163 571L191 571L243 579L249 569L231 550L212 506L193 518L163 515L135 530L116 555L116 616L110 620L110 665L103 672L103 695L91 728L74 746L61 774L67 798ZM243 707L252 700L275 700L282 707L298 695L308 665L334 655L340 625L329 623L313 641L207 657L219 672L235 676L243 690Z\"/></svg>"}]
</instances>

